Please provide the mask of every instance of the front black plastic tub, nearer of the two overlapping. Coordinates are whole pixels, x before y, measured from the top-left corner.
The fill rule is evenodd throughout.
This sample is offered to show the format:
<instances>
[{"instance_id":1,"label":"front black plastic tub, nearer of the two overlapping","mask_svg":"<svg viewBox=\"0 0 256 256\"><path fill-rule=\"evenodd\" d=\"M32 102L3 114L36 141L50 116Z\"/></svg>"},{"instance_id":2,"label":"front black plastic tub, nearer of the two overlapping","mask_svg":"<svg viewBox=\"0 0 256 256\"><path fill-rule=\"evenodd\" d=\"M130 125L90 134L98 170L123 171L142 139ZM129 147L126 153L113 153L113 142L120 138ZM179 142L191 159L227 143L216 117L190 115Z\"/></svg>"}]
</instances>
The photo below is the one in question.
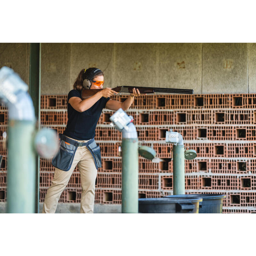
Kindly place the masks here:
<instances>
[{"instance_id":1,"label":"front black plastic tub, nearer of the two overlapping","mask_svg":"<svg viewBox=\"0 0 256 256\"><path fill-rule=\"evenodd\" d=\"M198 213L202 198L140 198L139 213Z\"/></svg>"}]
</instances>

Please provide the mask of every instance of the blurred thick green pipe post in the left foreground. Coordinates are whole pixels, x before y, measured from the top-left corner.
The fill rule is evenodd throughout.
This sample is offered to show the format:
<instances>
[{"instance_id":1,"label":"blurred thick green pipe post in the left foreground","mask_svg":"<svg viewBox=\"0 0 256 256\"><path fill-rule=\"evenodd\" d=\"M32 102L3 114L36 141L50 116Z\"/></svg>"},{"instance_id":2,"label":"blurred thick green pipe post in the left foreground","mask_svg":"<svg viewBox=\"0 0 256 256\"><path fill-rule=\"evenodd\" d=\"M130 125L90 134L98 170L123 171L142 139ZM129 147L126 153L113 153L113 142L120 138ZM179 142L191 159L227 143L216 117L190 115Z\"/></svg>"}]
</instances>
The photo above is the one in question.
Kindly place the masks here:
<instances>
[{"instance_id":1,"label":"blurred thick green pipe post in the left foreground","mask_svg":"<svg viewBox=\"0 0 256 256\"><path fill-rule=\"evenodd\" d=\"M35 212L34 121L9 120L7 212Z\"/></svg>"}]
</instances>

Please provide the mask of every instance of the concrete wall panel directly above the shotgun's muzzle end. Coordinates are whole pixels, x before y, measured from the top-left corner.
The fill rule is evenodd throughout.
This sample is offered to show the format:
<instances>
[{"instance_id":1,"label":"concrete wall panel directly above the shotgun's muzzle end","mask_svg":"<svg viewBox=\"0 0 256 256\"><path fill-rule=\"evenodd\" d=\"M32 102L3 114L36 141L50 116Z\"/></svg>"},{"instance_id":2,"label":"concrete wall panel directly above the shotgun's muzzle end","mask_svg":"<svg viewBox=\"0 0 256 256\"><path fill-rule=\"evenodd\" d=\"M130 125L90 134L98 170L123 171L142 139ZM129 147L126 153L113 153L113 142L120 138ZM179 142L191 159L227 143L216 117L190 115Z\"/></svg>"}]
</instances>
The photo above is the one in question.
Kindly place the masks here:
<instances>
[{"instance_id":1,"label":"concrete wall panel directly above the shotgun's muzzle end","mask_svg":"<svg viewBox=\"0 0 256 256\"><path fill-rule=\"evenodd\" d=\"M202 44L157 44L157 87L202 90Z\"/></svg>"}]
</instances>

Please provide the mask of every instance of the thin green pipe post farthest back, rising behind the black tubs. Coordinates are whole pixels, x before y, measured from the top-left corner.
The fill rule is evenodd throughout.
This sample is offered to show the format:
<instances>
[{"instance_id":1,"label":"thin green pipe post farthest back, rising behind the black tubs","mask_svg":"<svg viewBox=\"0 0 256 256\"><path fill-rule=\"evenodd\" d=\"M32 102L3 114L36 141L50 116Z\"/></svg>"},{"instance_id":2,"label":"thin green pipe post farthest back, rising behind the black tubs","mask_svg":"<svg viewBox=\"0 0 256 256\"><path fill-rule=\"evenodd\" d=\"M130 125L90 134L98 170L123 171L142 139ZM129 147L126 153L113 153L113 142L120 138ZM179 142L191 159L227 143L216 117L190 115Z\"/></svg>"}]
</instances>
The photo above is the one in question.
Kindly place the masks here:
<instances>
[{"instance_id":1,"label":"thin green pipe post farthest back, rising behind the black tubs","mask_svg":"<svg viewBox=\"0 0 256 256\"><path fill-rule=\"evenodd\" d=\"M173 195L185 195L184 145L173 145Z\"/></svg>"}]
</instances>

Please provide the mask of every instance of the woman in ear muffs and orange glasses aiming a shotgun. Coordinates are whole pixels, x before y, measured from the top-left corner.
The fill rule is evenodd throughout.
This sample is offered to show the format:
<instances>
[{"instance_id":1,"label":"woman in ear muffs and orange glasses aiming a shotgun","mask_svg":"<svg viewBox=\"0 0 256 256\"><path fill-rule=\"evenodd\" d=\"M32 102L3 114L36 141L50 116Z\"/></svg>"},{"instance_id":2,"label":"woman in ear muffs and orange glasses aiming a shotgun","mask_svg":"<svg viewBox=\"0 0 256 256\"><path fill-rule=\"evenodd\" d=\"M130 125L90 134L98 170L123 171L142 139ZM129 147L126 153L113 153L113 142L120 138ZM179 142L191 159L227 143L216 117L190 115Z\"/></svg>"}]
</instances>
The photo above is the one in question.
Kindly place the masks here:
<instances>
[{"instance_id":1,"label":"woman in ear muffs and orange glasses aiming a shotgun","mask_svg":"<svg viewBox=\"0 0 256 256\"><path fill-rule=\"evenodd\" d=\"M52 159L55 166L52 185L48 189L43 206L43 213L54 213L62 191L68 184L72 172L78 164L81 176L82 195L80 213L93 213L95 180L101 167L100 148L94 141L95 128L103 108L110 110L128 110L134 97L140 92L133 92L124 102L111 100L115 91L105 88L93 96L82 100L82 89L101 89L104 74L98 68L82 69L68 93L68 123L60 136L60 148Z\"/></svg>"}]
</instances>

